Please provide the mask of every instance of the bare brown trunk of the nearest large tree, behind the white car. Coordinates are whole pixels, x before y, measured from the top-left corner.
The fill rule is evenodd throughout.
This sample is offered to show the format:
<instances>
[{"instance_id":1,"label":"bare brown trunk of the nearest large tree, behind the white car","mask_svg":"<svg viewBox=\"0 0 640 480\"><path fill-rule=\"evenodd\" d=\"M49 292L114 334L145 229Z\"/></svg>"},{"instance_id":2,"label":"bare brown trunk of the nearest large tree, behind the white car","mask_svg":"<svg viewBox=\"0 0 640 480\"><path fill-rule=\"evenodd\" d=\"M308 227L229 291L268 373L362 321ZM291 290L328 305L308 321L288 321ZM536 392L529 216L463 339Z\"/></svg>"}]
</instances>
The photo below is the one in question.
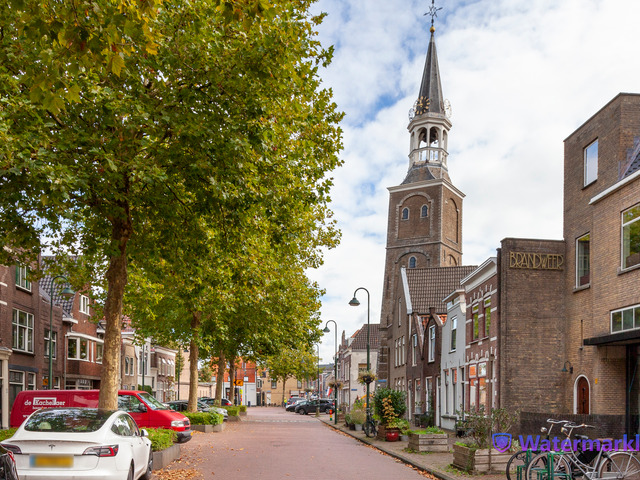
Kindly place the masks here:
<instances>
[{"instance_id":1,"label":"bare brown trunk of the nearest large tree, behind the white car","mask_svg":"<svg viewBox=\"0 0 640 480\"><path fill-rule=\"evenodd\" d=\"M125 208L126 220L114 219L112 238L118 243L120 254L109 259L107 269L107 299L104 304L104 351L102 354L102 377L98 408L118 409L120 380L120 343L122 333L122 302L127 285L127 242L132 226L129 209Z\"/></svg>"}]
</instances>

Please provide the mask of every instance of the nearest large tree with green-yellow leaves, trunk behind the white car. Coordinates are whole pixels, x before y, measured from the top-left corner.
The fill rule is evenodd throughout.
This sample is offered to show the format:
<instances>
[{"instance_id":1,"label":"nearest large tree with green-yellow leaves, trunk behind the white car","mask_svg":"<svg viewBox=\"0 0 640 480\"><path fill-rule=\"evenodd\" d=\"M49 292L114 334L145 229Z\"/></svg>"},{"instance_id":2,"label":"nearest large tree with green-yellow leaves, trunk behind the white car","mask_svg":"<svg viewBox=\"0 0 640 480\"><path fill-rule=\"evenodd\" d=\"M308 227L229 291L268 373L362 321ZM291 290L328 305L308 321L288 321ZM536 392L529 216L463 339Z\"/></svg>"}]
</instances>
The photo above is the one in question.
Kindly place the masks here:
<instances>
[{"instance_id":1,"label":"nearest large tree with green-yellow leaves, trunk behind the white car","mask_svg":"<svg viewBox=\"0 0 640 480\"><path fill-rule=\"evenodd\" d=\"M117 406L128 265L167 225L204 219L233 252L256 228L310 258L296 235L333 238L341 114L310 3L251 25L264 2L0 1L0 263L46 246L104 281L100 407Z\"/></svg>"}]
</instances>

